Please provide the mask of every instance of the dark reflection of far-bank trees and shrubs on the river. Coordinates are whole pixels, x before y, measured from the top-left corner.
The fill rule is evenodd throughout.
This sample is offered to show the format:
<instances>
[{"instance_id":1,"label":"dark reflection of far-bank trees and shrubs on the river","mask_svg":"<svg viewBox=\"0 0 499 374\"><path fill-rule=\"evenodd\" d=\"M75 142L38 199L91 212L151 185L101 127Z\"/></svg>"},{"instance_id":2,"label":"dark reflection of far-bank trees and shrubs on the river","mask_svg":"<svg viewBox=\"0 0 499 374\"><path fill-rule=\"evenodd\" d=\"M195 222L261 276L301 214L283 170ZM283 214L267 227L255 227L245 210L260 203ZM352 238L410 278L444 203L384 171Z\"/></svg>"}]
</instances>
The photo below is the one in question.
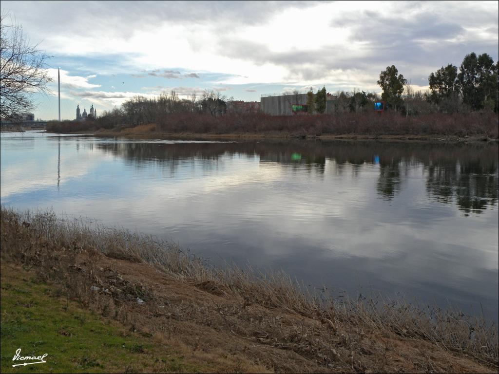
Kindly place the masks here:
<instances>
[{"instance_id":1,"label":"dark reflection of far-bank trees and shrubs on the river","mask_svg":"<svg viewBox=\"0 0 499 374\"><path fill-rule=\"evenodd\" d=\"M326 159L341 175L343 166L379 165L377 191L391 200L400 191L408 170L423 166L427 172L428 197L444 203L455 203L464 212L480 213L498 200L498 147L483 145L412 145L401 143L351 142L255 142L255 143L97 143L99 150L133 161L140 166L155 162L172 174L186 160L213 161L223 156L258 157L260 163L279 163L303 172L324 173ZM93 143L89 145L93 147ZM294 166L294 167L293 167Z\"/></svg>"}]
</instances>

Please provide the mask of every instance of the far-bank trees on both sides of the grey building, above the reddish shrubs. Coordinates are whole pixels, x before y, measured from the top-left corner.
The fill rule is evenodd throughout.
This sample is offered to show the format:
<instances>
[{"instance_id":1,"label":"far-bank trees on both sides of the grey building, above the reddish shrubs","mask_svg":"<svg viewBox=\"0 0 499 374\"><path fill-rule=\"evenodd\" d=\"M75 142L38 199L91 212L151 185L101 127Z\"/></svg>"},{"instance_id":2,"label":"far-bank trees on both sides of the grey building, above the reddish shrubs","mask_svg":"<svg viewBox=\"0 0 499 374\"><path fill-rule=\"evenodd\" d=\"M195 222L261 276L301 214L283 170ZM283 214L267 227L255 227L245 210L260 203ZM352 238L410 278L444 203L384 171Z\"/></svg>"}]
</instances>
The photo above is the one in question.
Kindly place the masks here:
<instances>
[{"instance_id":1,"label":"far-bank trees on both sides of the grey building, above the reddish shrubs","mask_svg":"<svg viewBox=\"0 0 499 374\"><path fill-rule=\"evenodd\" d=\"M428 77L429 89L424 93L415 92L411 81L404 78L395 65L381 71L377 84L382 89L381 100L385 102L387 110L405 116L435 112L497 113L498 64L487 53L477 56L472 52L465 56L459 69L448 64L432 72ZM325 86L316 93L311 88L307 92L308 114L325 113L327 95ZM337 92L332 99L334 114L372 111L373 103L380 100L378 94L360 90ZM125 101L120 108L104 112L95 121L103 128L111 128L121 124L136 126L155 123L175 113L204 113L220 117L227 113L227 104L233 100L214 90L205 90L199 99L196 92L181 99L175 91L153 98L135 96Z\"/></svg>"}]
</instances>

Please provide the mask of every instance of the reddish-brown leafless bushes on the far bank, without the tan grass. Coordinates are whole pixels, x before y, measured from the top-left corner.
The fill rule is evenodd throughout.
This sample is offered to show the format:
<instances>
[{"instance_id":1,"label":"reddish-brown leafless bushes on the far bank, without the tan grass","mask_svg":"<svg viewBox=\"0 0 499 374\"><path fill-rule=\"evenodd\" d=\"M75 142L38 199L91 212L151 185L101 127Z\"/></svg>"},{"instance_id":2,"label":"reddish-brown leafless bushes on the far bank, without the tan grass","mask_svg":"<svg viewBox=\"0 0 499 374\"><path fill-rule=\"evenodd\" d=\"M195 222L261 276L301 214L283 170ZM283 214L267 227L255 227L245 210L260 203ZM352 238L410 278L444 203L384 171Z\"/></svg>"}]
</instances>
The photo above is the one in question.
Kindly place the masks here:
<instances>
[{"instance_id":1,"label":"reddish-brown leafless bushes on the far bank, without the tan grass","mask_svg":"<svg viewBox=\"0 0 499 374\"><path fill-rule=\"evenodd\" d=\"M156 129L169 133L286 133L306 135L430 135L484 136L498 138L499 120L495 113L431 113L404 117L398 113L343 113L340 115L270 116L262 113L210 114L172 113L160 117ZM51 122L52 132L94 131L99 122ZM120 125L120 128L126 127Z\"/></svg>"}]
</instances>

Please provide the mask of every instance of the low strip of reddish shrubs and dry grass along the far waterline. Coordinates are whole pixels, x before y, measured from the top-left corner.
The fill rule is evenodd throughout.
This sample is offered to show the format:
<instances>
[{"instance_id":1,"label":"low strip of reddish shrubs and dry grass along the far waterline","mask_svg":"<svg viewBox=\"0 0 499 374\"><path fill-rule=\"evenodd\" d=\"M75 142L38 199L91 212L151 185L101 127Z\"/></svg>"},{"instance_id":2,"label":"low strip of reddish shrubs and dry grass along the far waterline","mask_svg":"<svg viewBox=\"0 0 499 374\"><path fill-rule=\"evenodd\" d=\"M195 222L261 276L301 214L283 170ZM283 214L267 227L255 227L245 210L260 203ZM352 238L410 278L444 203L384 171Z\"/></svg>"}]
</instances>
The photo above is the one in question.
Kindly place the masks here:
<instances>
[{"instance_id":1,"label":"low strip of reddish shrubs and dry grass along the far waterline","mask_svg":"<svg viewBox=\"0 0 499 374\"><path fill-rule=\"evenodd\" d=\"M339 115L269 116L262 113L210 114L172 113L153 123L129 124L102 118L87 121L52 121L48 132L92 133L103 136L158 138L249 137L321 139L414 139L492 140L499 139L496 113L432 113L401 116L398 113L344 113Z\"/></svg>"}]
</instances>

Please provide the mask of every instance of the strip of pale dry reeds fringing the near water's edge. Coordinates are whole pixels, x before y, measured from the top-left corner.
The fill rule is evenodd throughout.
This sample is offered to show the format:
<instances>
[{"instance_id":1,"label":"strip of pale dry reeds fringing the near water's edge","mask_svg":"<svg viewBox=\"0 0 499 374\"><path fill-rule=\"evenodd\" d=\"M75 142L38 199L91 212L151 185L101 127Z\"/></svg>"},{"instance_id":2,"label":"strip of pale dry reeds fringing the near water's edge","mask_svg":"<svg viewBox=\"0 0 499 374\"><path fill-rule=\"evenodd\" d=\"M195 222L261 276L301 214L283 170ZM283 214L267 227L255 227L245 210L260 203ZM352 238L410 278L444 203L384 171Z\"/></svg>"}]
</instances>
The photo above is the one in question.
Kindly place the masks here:
<instances>
[{"instance_id":1,"label":"strip of pale dry reeds fringing the near water's edge","mask_svg":"<svg viewBox=\"0 0 499 374\"><path fill-rule=\"evenodd\" d=\"M82 219L61 219L50 211L33 213L1 206L0 221L2 260L16 260L39 268L47 278L74 288L73 292L81 287L80 298L88 296L88 285L96 282L97 275L90 272L90 283L74 281L70 284L70 270L78 267L75 258L85 254L91 262L99 254L151 264L169 277L216 295L240 298L245 305L295 313L330 324L333 329L336 323L342 323L368 326L404 338L423 339L450 352L472 356L487 365L498 365L497 326L460 311L424 308L382 298L367 302L324 301L320 292L300 286L283 272L263 274L250 267L241 269L237 266L215 268L174 243ZM122 290L125 288L134 297L144 299L154 293L130 285Z\"/></svg>"}]
</instances>

